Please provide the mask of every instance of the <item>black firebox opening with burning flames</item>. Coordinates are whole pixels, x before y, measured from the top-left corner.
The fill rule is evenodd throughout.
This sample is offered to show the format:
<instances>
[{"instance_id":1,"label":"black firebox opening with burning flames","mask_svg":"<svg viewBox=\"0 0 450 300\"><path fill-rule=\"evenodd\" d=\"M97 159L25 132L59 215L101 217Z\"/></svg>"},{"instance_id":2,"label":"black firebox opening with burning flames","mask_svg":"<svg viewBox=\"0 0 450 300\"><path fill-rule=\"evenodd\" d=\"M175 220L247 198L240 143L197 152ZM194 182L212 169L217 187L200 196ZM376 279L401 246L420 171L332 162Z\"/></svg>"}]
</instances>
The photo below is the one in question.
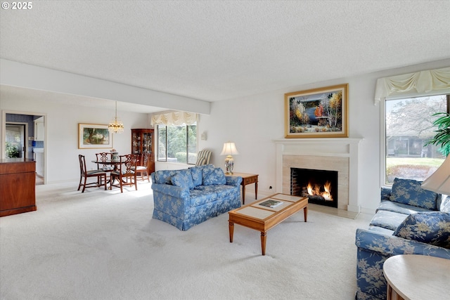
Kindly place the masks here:
<instances>
[{"instance_id":1,"label":"black firebox opening with burning flames","mask_svg":"<svg viewBox=\"0 0 450 300\"><path fill-rule=\"evenodd\" d=\"M338 208L338 171L290 168L290 195Z\"/></svg>"}]
</instances>

